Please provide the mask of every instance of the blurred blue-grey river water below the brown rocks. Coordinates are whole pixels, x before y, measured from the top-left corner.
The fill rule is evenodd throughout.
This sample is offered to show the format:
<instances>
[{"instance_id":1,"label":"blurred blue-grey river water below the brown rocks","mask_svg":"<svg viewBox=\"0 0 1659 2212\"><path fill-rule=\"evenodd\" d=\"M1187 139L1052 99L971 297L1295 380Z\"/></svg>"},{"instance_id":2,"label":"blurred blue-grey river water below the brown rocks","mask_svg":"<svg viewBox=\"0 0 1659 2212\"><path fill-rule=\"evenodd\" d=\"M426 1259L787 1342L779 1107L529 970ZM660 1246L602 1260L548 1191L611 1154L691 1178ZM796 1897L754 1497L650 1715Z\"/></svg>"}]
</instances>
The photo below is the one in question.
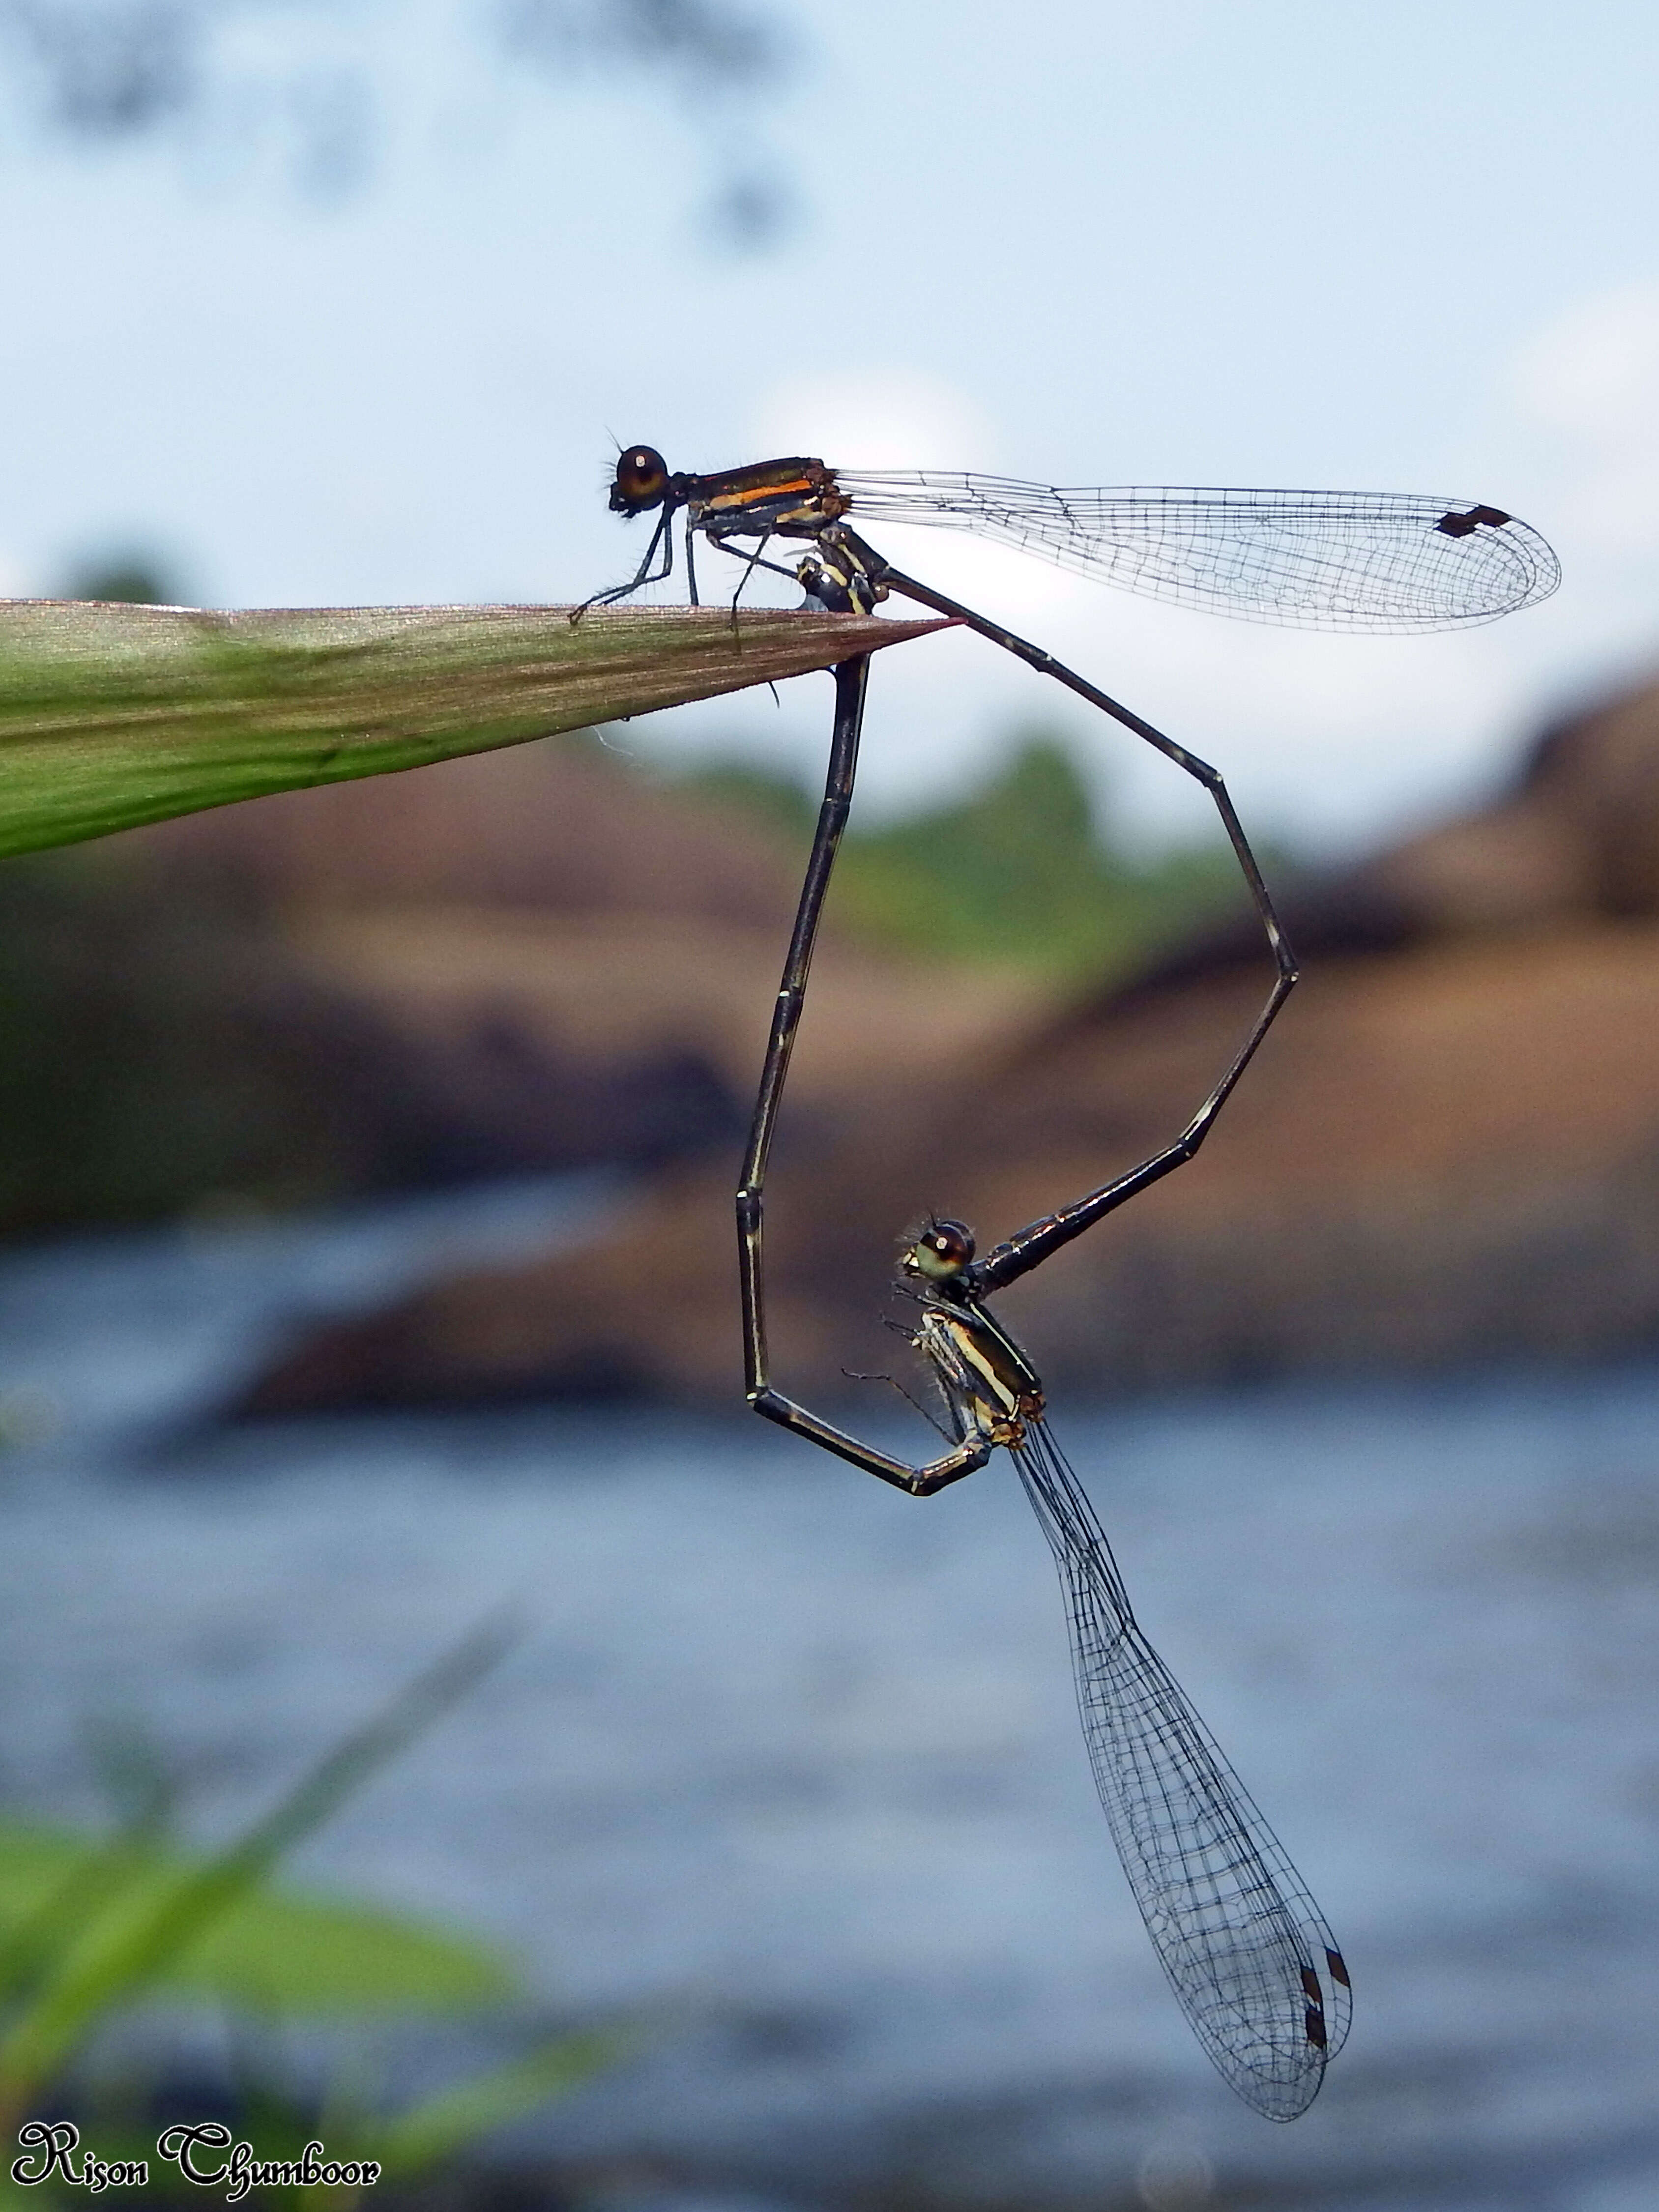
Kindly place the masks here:
<instances>
[{"instance_id":1,"label":"blurred blue-grey river water below the brown rocks","mask_svg":"<svg viewBox=\"0 0 1659 2212\"><path fill-rule=\"evenodd\" d=\"M650 2013L522 2148L630 2201L1659 2205L1659 1371L1057 1409L1354 1966L1272 2128L1130 1907L1011 1469L922 1504L743 1418L201 1425L296 1314L604 1197L0 1263L13 1807L91 1814L84 1728L137 1714L223 1832L518 1597L520 1652L303 1871Z\"/></svg>"}]
</instances>

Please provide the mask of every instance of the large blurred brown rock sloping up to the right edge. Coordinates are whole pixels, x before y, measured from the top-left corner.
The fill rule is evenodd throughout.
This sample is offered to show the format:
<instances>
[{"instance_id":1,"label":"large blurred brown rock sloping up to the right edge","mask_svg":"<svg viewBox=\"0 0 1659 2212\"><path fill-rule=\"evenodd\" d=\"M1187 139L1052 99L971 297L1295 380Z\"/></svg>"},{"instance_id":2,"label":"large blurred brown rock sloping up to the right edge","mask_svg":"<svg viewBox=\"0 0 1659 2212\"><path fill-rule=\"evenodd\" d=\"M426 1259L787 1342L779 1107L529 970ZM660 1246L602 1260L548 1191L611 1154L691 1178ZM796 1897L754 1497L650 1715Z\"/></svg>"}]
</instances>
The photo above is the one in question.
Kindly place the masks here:
<instances>
[{"instance_id":1,"label":"large blurred brown rock sloping up to the right edge","mask_svg":"<svg viewBox=\"0 0 1659 2212\"><path fill-rule=\"evenodd\" d=\"M1659 1340L1659 688L1562 723L1495 805L1285 907L1310 975L1201 1157L1000 1301L1048 1378ZM785 1113L768 1194L779 1387L845 1400L847 1369L902 1374L883 1316L902 1321L891 1261L920 1212L989 1243L1155 1152L1265 987L1259 936L1210 931L1128 989L980 1024L956 1055L942 1037L902 1062L865 1051L838 1113ZM856 1051L847 1011L814 1018ZM595 1385L730 1402L730 1161L681 1170L580 1254L325 1329L246 1409Z\"/></svg>"}]
</instances>

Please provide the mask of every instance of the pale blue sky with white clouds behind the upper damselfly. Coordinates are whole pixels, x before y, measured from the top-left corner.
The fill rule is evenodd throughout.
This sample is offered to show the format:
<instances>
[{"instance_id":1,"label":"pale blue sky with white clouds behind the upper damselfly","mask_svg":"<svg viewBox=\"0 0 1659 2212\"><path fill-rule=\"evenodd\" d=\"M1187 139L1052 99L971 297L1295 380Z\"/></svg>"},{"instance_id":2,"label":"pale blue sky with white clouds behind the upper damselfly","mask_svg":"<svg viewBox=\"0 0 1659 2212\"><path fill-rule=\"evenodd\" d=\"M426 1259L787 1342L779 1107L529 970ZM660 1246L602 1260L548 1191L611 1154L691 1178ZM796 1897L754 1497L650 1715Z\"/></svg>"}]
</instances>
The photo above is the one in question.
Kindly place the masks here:
<instances>
[{"instance_id":1,"label":"pale blue sky with white clouds behind the upper damselfly","mask_svg":"<svg viewBox=\"0 0 1659 2212\"><path fill-rule=\"evenodd\" d=\"M677 467L805 449L1526 515L1562 593L1400 641L887 540L1325 849L1480 794L1544 714L1659 657L1659 11L772 4L794 73L721 126L796 179L763 257L699 230L710 166L670 100L513 84L460 0L332 11L385 97L367 184L327 206L252 113L100 159L13 115L7 588L137 544L210 604L582 597L633 564L613 438ZM624 741L805 763L825 712L807 679ZM872 805L967 785L1022 719L1073 732L1148 834L1197 821L964 637L878 666Z\"/></svg>"}]
</instances>

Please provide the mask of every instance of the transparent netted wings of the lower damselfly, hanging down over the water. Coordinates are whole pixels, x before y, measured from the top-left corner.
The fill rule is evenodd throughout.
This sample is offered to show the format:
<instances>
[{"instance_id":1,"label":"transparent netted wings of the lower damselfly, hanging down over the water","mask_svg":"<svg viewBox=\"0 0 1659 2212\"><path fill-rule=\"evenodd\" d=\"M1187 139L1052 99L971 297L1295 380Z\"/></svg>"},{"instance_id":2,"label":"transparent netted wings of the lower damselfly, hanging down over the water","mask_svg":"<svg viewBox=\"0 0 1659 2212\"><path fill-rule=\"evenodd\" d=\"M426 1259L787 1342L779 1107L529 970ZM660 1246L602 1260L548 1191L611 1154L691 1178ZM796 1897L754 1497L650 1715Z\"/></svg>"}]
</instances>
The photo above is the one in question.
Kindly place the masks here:
<instances>
[{"instance_id":1,"label":"transparent netted wings of the lower damselfly, hanging down over the water","mask_svg":"<svg viewBox=\"0 0 1659 2212\"><path fill-rule=\"evenodd\" d=\"M1042 1420L1015 1449L1060 1566L1099 1801L1181 2011L1232 2088L1296 2119L1343 2046L1343 1953L1130 1613L1095 1509Z\"/></svg>"}]
</instances>

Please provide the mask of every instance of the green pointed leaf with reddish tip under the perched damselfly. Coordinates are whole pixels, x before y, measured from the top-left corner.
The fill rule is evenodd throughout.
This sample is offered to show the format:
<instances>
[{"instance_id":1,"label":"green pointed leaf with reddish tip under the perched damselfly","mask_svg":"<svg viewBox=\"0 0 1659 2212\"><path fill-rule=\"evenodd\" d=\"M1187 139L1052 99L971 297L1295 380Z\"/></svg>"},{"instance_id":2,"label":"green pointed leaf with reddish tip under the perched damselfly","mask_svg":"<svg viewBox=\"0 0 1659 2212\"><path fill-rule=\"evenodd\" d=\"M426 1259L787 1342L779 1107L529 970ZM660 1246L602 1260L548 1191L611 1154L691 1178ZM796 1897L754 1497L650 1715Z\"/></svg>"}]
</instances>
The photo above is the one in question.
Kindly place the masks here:
<instances>
[{"instance_id":1,"label":"green pointed leaf with reddish tip under the perched damselfly","mask_svg":"<svg viewBox=\"0 0 1659 2212\"><path fill-rule=\"evenodd\" d=\"M0 602L0 854L776 684L938 622Z\"/></svg>"}]
</instances>

